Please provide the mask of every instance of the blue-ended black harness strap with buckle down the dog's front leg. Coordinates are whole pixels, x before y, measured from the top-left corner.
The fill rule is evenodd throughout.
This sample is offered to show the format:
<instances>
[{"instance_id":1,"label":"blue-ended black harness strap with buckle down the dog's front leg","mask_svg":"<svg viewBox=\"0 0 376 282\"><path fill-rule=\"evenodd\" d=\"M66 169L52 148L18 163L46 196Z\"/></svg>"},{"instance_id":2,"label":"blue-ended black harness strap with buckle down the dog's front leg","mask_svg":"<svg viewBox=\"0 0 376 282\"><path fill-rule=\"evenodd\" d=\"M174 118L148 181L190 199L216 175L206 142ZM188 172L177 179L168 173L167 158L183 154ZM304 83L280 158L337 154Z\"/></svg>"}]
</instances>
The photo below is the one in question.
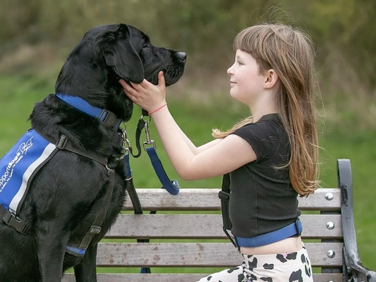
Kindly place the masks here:
<instances>
[{"instance_id":1,"label":"blue-ended black harness strap with buckle down the dog's front leg","mask_svg":"<svg viewBox=\"0 0 376 282\"><path fill-rule=\"evenodd\" d=\"M102 223L105 220L108 207L111 203L112 192L114 191L114 184L115 184L115 171L113 169L109 169L109 183L106 186L106 192L103 196L102 201L97 201L93 206L92 209L95 209L97 206L100 206L99 214L97 215L96 219L94 220L93 224L90 226L88 232L86 232L85 236L82 238L82 241L78 248L67 246L67 251L74 255L83 256L85 255L86 249L88 248L92 238L99 234L102 230Z\"/></svg>"}]
</instances>

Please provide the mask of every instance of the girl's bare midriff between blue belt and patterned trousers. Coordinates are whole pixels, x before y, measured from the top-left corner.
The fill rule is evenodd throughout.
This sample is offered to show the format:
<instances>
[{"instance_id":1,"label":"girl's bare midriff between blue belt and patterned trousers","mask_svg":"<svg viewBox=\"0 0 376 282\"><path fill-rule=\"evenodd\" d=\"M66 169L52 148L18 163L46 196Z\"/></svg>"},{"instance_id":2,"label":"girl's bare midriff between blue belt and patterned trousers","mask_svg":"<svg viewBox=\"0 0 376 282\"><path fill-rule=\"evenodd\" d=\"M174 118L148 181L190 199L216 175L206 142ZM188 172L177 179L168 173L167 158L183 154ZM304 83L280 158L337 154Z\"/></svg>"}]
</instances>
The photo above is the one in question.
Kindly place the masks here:
<instances>
[{"instance_id":1,"label":"girl's bare midriff between blue belt and patterned trousers","mask_svg":"<svg viewBox=\"0 0 376 282\"><path fill-rule=\"evenodd\" d=\"M299 252L303 247L302 239L299 237L290 237L269 245L260 247L240 247L243 255L273 255L276 253Z\"/></svg>"}]
</instances>

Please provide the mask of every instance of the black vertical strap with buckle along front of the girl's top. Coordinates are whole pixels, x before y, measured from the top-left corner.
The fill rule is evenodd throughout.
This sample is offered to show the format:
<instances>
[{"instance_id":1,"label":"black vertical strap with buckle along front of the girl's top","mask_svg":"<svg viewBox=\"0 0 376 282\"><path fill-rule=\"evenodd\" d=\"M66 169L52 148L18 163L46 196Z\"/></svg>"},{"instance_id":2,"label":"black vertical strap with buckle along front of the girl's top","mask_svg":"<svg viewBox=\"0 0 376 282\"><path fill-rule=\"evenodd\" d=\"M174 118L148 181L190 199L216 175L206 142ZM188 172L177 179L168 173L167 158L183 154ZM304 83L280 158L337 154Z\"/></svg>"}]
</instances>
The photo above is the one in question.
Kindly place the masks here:
<instances>
[{"instance_id":1,"label":"black vertical strap with buckle along front of the girl's top","mask_svg":"<svg viewBox=\"0 0 376 282\"><path fill-rule=\"evenodd\" d=\"M222 220L223 220L223 231L226 234L227 238L231 241L231 243L238 249L238 246L235 240L231 237L228 230L231 230L232 223L230 220L229 214L229 200L230 200L230 174L226 173L222 179L222 189L218 193L219 199L221 199L221 211L222 211Z\"/></svg>"}]
</instances>

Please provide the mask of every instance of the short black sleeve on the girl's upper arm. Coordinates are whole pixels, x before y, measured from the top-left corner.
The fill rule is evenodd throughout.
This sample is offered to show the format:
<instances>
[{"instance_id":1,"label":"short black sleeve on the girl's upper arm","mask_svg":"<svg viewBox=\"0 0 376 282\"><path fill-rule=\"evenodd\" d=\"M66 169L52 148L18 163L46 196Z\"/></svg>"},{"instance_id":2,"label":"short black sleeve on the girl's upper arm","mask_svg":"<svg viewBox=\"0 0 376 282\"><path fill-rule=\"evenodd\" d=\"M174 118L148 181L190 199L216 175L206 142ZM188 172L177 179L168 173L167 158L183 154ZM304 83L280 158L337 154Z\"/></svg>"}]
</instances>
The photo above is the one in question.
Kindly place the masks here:
<instances>
[{"instance_id":1,"label":"short black sleeve on the girl's upper arm","mask_svg":"<svg viewBox=\"0 0 376 282\"><path fill-rule=\"evenodd\" d=\"M270 158L276 152L278 133L269 121L258 121L236 129L235 134L246 140L256 154L256 162Z\"/></svg>"}]
</instances>

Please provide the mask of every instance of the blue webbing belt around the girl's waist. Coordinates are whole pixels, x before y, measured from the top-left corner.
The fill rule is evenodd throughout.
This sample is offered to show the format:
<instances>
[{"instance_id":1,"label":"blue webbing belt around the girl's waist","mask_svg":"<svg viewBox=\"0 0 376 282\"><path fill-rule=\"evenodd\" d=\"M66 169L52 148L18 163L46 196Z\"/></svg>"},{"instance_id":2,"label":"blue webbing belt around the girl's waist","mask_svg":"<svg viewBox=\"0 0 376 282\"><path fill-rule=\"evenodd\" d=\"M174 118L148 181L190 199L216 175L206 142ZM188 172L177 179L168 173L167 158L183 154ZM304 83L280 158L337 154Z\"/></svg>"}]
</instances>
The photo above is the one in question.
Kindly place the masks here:
<instances>
[{"instance_id":1,"label":"blue webbing belt around the girl's waist","mask_svg":"<svg viewBox=\"0 0 376 282\"><path fill-rule=\"evenodd\" d=\"M280 240L284 240L296 234L301 234L303 230L302 223L299 218L281 229L274 230L269 233L261 234L252 238L244 238L235 236L235 242L239 247L259 247L265 246Z\"/></svg>"}]
</instances>

